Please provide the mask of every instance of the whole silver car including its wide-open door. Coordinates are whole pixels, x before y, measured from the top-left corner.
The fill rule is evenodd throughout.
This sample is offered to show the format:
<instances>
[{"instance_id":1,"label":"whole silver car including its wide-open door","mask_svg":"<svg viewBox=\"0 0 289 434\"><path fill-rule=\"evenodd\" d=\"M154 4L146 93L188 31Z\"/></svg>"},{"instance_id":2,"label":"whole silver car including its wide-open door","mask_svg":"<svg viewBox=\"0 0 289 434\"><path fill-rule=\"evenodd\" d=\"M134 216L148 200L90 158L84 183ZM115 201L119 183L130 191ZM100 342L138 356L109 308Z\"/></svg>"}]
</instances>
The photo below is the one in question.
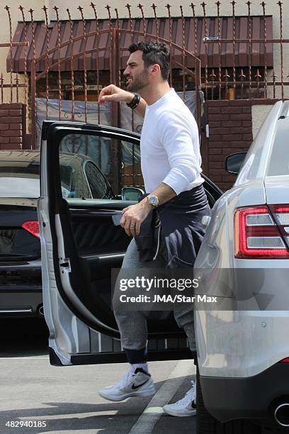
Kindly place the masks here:
<instances>
[{"instance_id":1,"label":"whole silver car including its wide-open door","mask_svg":"<svg viewBox=\"0 0 289 434\"><path fill-rule=\"evenodd\" d=\"M218 304L196 308L198 434L261 433L255 420L289 425L287 113L287 103L273 107L232 189L222 196L205 178L210 206L217 203L195 271L198 290ZM134 203L128 199L136 191L122 199L63 195L59 153L62 140L66 152L75 152L67 149L69 135L72 146L79 137L96 145L106 138L114 152L120 148L115 144L140 143L140 135L118 128L43 123L38 216L50 363L124 362L111 311L111 269L120 267L130 239L113 219ZM243 158L229 157L228 168L236 163L239 169ZM191 357L170 312L148 328L149 360Z\"/></svg>"}]
</instances>

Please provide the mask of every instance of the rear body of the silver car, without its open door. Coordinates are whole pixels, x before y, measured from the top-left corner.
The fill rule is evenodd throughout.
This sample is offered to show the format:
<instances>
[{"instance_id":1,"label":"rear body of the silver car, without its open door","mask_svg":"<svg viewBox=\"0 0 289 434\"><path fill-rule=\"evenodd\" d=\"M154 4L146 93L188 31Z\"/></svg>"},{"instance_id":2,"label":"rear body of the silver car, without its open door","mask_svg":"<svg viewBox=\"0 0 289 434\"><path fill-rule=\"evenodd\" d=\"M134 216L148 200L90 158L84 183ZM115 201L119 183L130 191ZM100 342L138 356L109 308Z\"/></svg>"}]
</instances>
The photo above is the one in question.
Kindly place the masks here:
<instances>
[{"instance_id":1,"label":"rear body of the silver car, without its open door","mask_svg":"<svg viewBox=\"0 0 289 434\"><path fill-rule=\"evenodd\" d=\"M215 204L195 262L202 293L217 297L196 308L202 434L289 432L288 137L289 103L279 101ZM237 172L240 157L227 168Z\"/></svg>"}]
</instances>

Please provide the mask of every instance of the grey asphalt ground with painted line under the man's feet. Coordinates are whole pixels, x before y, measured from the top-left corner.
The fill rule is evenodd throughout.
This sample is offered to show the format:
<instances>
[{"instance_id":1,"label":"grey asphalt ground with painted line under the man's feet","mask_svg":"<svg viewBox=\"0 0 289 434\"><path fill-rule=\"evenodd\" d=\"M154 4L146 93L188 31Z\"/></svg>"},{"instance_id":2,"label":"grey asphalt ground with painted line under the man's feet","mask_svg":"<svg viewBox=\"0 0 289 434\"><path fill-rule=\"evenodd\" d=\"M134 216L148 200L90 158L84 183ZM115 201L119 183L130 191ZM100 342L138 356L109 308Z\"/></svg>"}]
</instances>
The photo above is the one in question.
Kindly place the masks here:
<instances>
[{"instance_id":1,"label":"grey asphalt ground with painted line under the man's feet","mask_svg":"<svg viewBox=\"0 0 289 434\"><path fill-rule=\"evenodd\" d=\"M150 363L157 394L112 403L97 390L118 381L128 365L52 367L43 321L1 319L0 327L1 434L196 433L195 418L162 413L190 388L192 360Z\"/></svg>"}]
</instances>

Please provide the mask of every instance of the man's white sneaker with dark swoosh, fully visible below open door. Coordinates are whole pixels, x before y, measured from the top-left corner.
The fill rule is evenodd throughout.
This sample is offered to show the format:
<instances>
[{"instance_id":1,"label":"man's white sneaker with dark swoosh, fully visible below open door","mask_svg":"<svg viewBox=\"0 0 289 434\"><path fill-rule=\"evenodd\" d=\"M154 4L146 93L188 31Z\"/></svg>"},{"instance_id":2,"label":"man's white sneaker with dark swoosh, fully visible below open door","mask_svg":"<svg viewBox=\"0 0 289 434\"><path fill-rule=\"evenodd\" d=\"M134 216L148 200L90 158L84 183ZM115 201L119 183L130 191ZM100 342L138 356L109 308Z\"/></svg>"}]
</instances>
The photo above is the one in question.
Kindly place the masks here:
<instances>
[{"instance_id":1,"label":"man's white sneaker with dark swoosh, fully visible below open door","mask_svg":"<svg viewBox=\"0 0 289 434\"><path fill-rule=\"evenodd\" d=\"M130 396L153 396L155 393L152 377L142 368L131 369L114 386L98 391L108 401L123 401Z\"/></svg>"}]
</instances>

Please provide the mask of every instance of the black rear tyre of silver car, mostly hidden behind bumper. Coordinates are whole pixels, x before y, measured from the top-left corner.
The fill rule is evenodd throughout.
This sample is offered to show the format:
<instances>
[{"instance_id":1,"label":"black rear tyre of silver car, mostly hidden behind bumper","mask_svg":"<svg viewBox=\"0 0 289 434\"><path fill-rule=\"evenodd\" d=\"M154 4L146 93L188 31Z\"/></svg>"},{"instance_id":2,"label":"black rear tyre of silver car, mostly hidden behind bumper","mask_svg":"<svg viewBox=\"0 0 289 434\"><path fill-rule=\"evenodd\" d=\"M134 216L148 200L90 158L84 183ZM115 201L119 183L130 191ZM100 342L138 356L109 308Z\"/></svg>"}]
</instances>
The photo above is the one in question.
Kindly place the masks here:
<instances>
[{"instance_id":1,"label":"black rear tyre of silver car, mostly hidden behind bumper","mask_svg":"<svg viewBox=\"0 0 289 434\"><path fill-rule=\"evenodd\" d=\"M261 434L262 428L251 421L237 420L221 423L206 410L200 389L200 375L197 370L197 434Z\"/></svg>"}]
</instances>

